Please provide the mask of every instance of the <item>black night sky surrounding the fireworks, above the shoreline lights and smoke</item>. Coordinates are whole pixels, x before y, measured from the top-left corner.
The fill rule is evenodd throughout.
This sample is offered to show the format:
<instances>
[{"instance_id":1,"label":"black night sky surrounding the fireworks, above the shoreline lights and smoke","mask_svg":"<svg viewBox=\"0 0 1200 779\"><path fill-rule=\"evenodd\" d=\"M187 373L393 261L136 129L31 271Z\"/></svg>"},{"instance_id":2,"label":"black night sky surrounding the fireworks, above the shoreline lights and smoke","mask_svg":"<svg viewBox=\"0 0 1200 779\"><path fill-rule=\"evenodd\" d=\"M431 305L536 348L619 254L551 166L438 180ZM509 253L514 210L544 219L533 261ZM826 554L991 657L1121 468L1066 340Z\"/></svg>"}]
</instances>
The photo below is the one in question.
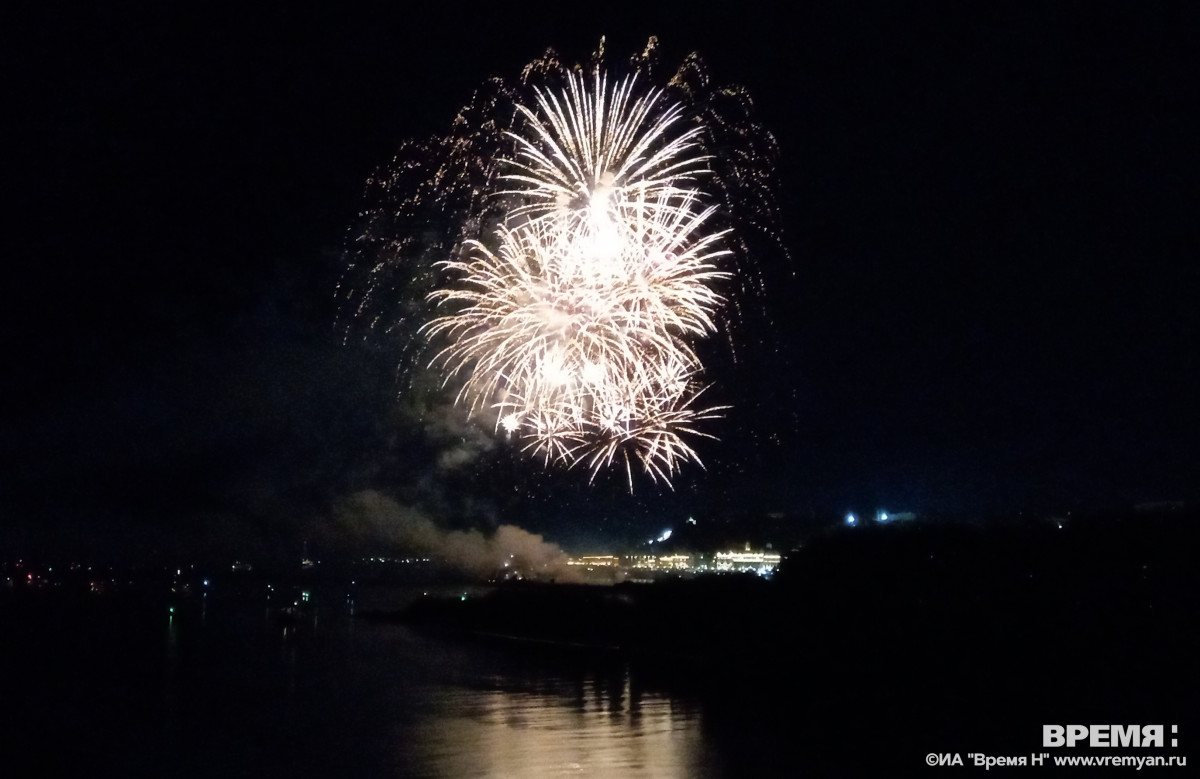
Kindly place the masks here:
<instances>
[{"instance_id":1,"label":"black night sky surrounding the fireworks, above the shoreline lights and smoke","mask_svg":"<svg viewBox=\"0 0 1200 779\"><path fill-rule=\"evenodd\" d=\"M0 544L287 544L364 489L566 543L1198 497L1189 4L169 5L0 12ZM634 497L414 426L388 344L335 326L372 169L601 35L746 88L792 257L757 433Z\"/></svg>"}]
</instances>

